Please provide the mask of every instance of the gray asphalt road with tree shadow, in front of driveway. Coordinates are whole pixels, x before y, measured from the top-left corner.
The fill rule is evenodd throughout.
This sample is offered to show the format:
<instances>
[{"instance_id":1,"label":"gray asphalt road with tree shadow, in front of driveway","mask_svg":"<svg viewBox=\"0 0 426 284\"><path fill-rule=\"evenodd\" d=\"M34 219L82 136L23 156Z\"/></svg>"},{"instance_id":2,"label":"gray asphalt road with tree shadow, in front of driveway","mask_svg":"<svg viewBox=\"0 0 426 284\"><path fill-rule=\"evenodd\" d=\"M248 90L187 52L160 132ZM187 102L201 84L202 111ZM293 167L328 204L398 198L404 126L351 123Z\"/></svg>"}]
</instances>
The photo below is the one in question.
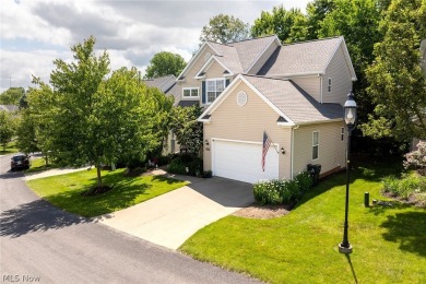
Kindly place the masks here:
<instances>
[{"instance_id":1,"label":"gray asphalt road with tree shadow, in front of driveway","mask_svg":"<svg viewBox=\"0 0 426 284\"><path fill-rule=\"evenodd\" d=\"M0 282L258 283L63 212L0 157Z\"/></svg>"}]
</instances>

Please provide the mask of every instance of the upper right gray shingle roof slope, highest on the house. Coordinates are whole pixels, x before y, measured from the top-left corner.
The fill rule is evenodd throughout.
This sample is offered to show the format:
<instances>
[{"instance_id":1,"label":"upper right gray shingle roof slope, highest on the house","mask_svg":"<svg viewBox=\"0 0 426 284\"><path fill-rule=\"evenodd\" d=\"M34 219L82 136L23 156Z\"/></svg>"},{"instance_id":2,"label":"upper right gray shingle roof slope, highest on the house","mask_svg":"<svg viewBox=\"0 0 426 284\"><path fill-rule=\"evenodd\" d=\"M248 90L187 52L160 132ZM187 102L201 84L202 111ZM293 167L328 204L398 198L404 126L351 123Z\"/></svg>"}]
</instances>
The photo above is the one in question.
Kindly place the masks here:
<instances>
[{"instance_id":1,"label":"upper right gray shingle roof slope, highest on the house","mask_svg":"<svg viewBox=\"0 0 426 284\"><path fill-rule=\"evenodd\" d=\"M323 73L342 40L343 37L334 37L281 46L258 75Z\"/></svg>"}]
</instances>

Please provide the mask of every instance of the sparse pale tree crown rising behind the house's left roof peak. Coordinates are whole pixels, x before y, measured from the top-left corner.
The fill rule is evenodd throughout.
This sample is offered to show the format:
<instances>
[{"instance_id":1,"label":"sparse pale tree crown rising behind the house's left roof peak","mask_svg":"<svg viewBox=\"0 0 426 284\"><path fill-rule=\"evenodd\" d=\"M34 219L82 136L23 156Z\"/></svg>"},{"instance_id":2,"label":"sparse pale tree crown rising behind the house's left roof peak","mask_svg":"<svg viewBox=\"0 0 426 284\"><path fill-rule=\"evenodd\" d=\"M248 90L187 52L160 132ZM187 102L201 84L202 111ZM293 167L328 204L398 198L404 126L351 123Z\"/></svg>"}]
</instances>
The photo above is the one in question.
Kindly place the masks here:
<instances>
[{"instance_id":1,"label":"sparse pale tree crown rising behind the house's left roof peak","mask_svg":"<svg viewBox=\"0 0 426 284\"><path fill-rule=\"evenodd\" d=\"M200 42L233 43L250 37L249 24L233 15L218 14L201 29Z\"/></svg>"}]
</instances>

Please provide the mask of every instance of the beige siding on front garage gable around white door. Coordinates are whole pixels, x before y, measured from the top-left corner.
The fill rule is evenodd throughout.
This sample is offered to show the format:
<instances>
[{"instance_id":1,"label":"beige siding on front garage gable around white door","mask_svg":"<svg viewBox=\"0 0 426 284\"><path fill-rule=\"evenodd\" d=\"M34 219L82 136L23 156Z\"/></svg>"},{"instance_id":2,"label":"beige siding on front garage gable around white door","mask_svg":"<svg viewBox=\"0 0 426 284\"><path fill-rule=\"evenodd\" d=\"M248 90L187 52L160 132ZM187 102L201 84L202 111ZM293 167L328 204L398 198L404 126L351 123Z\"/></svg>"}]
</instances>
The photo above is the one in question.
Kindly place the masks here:
<instances>
[{"instance_id":1,"label":"beige siding on front garage gable around white door","mask_svg":"<svg viewBox=\"0 0 426 284\"><path fill-rule=\"evenodd\" d=\"M240 91L248 96L245 106L237 104L237 94ZM279 154L280 178L291 178L291 128L280 128L276 125L277 118L279 115L244 82L238 83L212 114L211 122L204 123L204 140L210 143L203 147L204 170L210 170L212 166L212 138L261 143L265 130L273 143L277 144L277 150L283 146L286 151L285 155L281 154L281 151ZM269 151L275 149L271 146Z\"/></svg>"}]
</instances>

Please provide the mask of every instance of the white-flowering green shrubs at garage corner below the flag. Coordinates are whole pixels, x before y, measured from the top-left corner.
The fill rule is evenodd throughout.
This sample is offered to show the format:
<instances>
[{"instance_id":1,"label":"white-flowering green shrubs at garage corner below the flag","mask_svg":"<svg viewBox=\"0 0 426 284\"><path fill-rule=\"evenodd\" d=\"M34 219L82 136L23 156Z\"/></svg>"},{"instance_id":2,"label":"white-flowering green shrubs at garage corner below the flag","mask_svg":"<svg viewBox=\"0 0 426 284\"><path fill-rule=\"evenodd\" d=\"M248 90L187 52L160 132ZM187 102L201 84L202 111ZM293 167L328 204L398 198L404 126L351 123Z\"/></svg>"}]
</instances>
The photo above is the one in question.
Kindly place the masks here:
<instances>
[{"instance_id":1,"label":"white-flowering green shrubs at garage corner below the flag","mask_svg":"<svg viewBox=\"0 0 426 284\"><path fill-rule=\"evenodd\" d=\"M255 200L264 204L289 204L298 199L312 186L312 179L307 171L298 174L293 180L272 179L260 180L253 185Z\"/></svg>"}]
</instances>

